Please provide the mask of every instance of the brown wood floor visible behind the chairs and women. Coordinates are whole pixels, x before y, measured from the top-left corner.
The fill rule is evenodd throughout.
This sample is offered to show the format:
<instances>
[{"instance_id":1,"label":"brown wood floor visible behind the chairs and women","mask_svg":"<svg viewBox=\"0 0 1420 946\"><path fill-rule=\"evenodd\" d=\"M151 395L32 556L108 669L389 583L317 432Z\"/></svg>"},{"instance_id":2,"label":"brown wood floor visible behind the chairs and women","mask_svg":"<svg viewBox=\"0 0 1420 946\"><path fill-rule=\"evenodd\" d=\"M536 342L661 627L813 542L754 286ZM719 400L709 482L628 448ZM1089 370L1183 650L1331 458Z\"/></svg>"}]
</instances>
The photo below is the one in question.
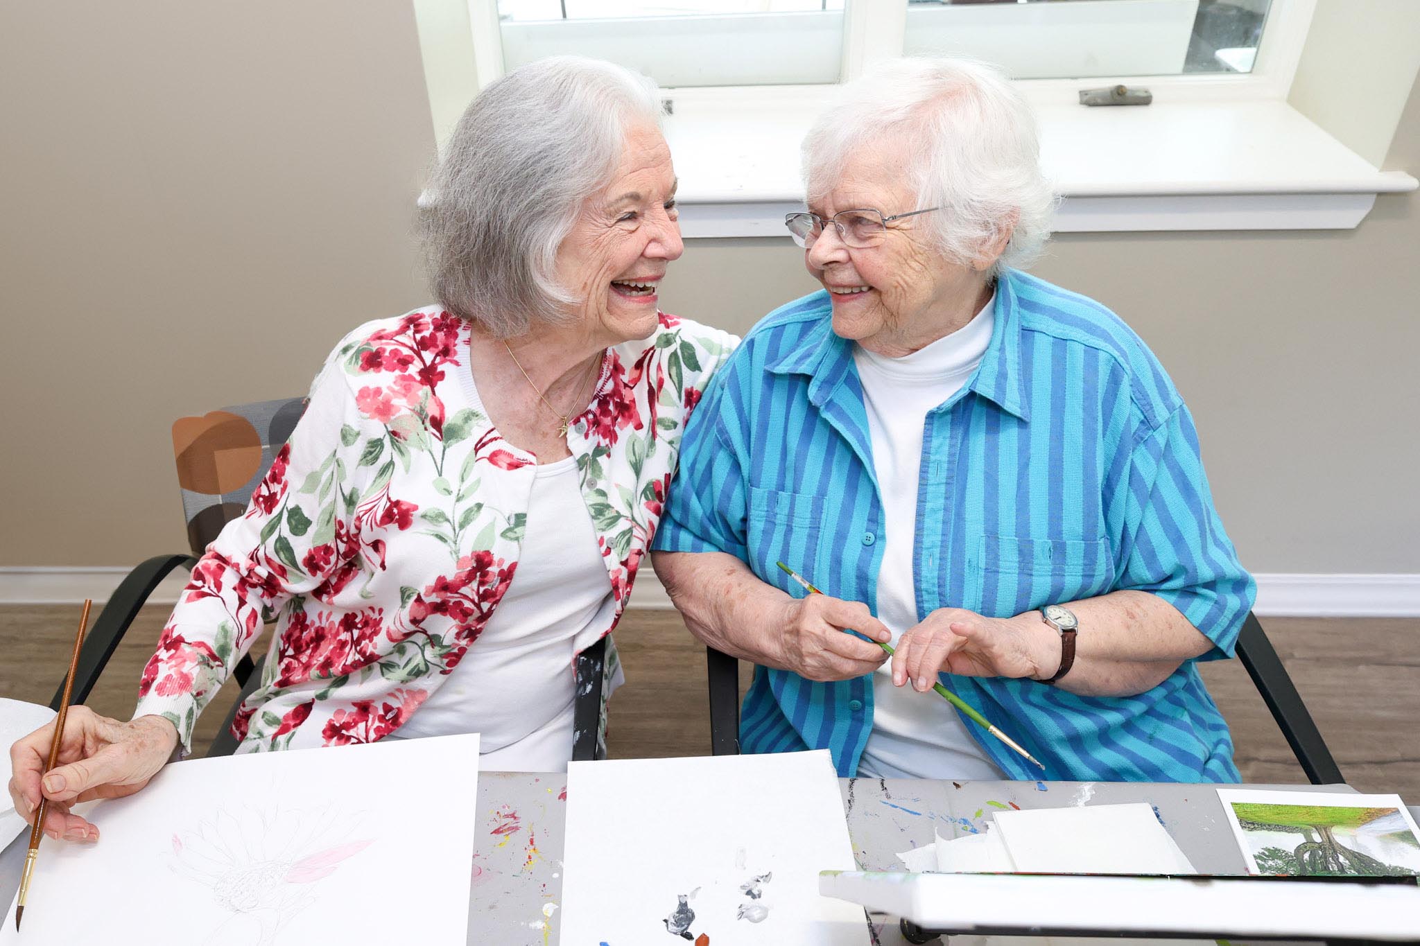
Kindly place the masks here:
<instances>
[{"instance_id":1,"label":"brown wood floor visible behind the chairs and women","mask_svg":"<svg viewBox=\"0 0 1420 946\"><path fill-rule=\"evenodd\" d=\"M126 719L142 665L166 608L145 608L88 703ZM0 696L48 702L64 677L78 608L0 607ZM1331 746L1346 780L1362 791L1399 791L1420 803L1420 620L1268 618L1268 637ZM674 611L632 611L616 631L626 686L612 699L612 757L710 752L704 648ZM258 644L264 647L264 644ZM1244 781L1305 781L1267 706L1237 661L1214 661L1204 679L1237 743ZM748 679L748 667L741 665ZM226 716L224 691L202 716L206 752Z\"/></svg>"}]
</instances>

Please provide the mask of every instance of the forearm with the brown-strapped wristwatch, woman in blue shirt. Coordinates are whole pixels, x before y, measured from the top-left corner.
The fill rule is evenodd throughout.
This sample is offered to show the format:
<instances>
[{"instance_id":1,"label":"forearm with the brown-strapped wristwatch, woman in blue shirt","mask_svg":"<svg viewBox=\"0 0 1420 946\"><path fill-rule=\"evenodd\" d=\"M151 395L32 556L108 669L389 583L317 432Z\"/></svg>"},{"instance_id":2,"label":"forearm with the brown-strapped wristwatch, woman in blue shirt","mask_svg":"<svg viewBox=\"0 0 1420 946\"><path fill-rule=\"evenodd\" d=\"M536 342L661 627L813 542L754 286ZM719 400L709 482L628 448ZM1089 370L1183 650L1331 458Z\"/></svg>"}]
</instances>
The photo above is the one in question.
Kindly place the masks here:
<instances>
[{"instance_id":1,"label":"forearm with the brown-strapped wristwatch, woman in blue shirt","mask_svg":"<svg viewBox=\"0 0 1420 946\"><path fill-rule=\"evenodd\" d=\"M1075 664L1055 682L1081 696L1133 696L1153 689L1179 667L1206 654L1213 641L1157 594L1112 591L1065 603L1079 618ZM1059 635L1039 611L1014 618L1037 641L1039 677L1049 678L1061 661Z\"/></svg>"}]
</instances>

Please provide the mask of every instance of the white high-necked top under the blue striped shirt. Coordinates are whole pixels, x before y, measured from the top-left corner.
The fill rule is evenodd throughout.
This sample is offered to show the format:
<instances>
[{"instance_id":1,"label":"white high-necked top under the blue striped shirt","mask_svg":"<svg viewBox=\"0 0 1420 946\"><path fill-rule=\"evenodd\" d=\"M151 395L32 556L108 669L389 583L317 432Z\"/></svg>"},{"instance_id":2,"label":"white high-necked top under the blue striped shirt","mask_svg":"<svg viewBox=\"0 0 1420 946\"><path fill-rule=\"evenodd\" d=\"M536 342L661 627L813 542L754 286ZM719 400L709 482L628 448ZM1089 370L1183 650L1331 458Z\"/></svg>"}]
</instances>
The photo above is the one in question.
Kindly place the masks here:
<instances>
[{"instance_id":1,"label":"white high-necked top under the blue striped shirt","mask_svg":"<svg viewBox=\"0 0 1420 946\"><path fill-rule=\"evenodd\" d=\"M991 342L994 301L993 295L963 328L906 357L853 346L886 522L878 618L892 631L895 645L926 617L917 611L912 564L926 417L960 391L981 363ZM1003 779L967 726L976 723L963 719L939 694L920 694L910 681L893 686L889 660L873 674L873 729L858 772L878 779Z\"/></svg>"}]
</instances>

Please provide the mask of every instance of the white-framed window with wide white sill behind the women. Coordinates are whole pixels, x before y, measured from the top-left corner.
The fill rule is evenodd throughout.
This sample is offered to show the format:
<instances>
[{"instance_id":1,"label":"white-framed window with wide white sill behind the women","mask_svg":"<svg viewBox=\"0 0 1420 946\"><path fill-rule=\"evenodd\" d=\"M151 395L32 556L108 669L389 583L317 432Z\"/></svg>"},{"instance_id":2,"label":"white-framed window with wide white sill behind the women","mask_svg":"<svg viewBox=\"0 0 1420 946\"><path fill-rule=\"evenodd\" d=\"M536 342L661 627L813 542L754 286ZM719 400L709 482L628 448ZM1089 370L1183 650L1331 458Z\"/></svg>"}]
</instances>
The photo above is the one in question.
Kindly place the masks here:
<instances>
[{"instance_id":1,"label":"white-framed window with wide white sill behind the women","mask_svg":"<svg viewBox=\"0 0 1420 946\"><path fill-rule=\"evenodd\" d=\"M463 0L416 0L416 13L446 10L444 1ZM974 55L1018 81L1037 112L1042 163L1065 199L1058 230L1349 228L1376 194L1420 182L1377 170L1288 104L1316 4L467 0L471 69L450 61L447 44L426 40L425 23L420 43L440 128L477 91L446 74L486 84L542 55L574 52L653 77L673 105L665 130L686 237L787 240L782 216L801 208L798 143L828 94L905 54ZM1394 48L1416 31L1413 16L1390 14ZM1386 28L1375 18L1328 17L1333 31L1348 24L1349 41ZM429 37L449 35L447 21L427 20ZM1079 105L1082 88L1120 82L1147 87L1153 105ZM1367 121L1393 130L1404 94L1376 98L1386 104L1370 105Z\"/></svg>"}]
</instances>

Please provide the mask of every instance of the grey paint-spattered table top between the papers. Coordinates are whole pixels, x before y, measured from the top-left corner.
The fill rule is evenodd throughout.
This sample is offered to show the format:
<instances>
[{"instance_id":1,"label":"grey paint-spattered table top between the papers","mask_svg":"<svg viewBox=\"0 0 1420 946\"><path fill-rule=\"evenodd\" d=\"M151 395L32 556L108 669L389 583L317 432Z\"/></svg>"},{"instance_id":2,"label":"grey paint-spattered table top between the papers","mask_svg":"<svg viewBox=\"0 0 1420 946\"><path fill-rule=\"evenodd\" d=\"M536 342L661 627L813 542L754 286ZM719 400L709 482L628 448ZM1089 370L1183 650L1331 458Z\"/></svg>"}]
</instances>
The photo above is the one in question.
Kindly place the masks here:
<instances>
[{"instance_id":1,"label":"grey paint-spattered table top between the papers","mask_svg":"<svg viewBox=\"0 0 1420 946\"><path fill-rule=\"evenodd\" d=\"M1200 872L1242 874L1242 854L1223 814L1217 787L1110 781L839 780L853 855L865 871L903 869L896 857L899 852L932 844L937 831L953 838L977 833L990 811L997 808L1147 801ZM1247 787L1352 791L1348 786ZM1411 810L1420 814L1420 808ZM470 872L467 942L470 946L555 945L557 911L562 901L567 776L480 773L479 818ZM28 833L23 833L0 852L0 902L14 899L27 842ZM953 946L966 946L981 939L953 936L951 942ZM863 942L896 946L906 940L897 932L896 918L869 916ZM1166 943L1149 942L1154 946Z\"/></svg>"}]
</instances>

